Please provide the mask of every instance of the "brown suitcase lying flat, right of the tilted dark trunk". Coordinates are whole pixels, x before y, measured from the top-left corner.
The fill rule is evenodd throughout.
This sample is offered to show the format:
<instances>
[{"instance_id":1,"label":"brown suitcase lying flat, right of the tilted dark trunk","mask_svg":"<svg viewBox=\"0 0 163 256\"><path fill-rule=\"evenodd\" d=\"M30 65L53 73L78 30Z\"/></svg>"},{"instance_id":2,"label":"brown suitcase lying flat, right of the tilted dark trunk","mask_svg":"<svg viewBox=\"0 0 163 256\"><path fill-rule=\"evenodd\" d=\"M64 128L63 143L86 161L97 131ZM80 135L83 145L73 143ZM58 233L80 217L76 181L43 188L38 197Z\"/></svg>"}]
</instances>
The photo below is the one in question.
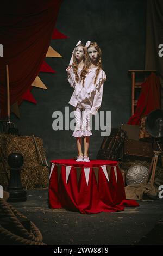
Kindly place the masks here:
<instances>
[{"instance_id":1,"label":"brown suitcase lying flat, right of the tilted dark trunk","mask_svg":"<svg viewBox=\"0 0 163 256\"><path fill-rule=\"evenodd\" d=\"M124 158L151 160L153 150L158 150L158 145L151 142L134 141L132 139L124 140Z\"/></svg>"}]
</instances>

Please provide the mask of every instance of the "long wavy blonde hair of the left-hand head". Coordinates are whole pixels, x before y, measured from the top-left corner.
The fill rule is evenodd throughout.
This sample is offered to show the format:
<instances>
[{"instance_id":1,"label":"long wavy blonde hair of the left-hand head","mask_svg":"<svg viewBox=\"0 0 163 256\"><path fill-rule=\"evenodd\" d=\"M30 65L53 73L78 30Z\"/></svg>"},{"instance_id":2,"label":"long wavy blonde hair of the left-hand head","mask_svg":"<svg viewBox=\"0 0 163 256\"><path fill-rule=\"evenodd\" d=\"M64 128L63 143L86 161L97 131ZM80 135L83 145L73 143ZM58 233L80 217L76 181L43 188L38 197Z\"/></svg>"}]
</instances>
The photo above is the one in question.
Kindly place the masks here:
<instances>
[{"instance_id":1,"label":"long wavy blonde hair of the left-hand head","mask_svg":"<svg viewBox=\"0 0 163 256\"><path fill-rule=\"evenodd\" d=\"M85 77L86 77L86 74L87 74L87 69L89 67L89 60L88 60L87 48L85 47L85 45L80 43L78 46L81 46L83 48L83 51L84 51L84 57L83 57L84 66L83 66L83 69L80 73L80 80L82 81L82 84L84 86L84 80L85 80ZM75 74L76 82L79 83L78 62L77 62L77 59L75 57L76 48L75 48L74 53L73 53L72 68L73 68L73 71L74 71L74 74Z\"/></svg>"}]
</instances>

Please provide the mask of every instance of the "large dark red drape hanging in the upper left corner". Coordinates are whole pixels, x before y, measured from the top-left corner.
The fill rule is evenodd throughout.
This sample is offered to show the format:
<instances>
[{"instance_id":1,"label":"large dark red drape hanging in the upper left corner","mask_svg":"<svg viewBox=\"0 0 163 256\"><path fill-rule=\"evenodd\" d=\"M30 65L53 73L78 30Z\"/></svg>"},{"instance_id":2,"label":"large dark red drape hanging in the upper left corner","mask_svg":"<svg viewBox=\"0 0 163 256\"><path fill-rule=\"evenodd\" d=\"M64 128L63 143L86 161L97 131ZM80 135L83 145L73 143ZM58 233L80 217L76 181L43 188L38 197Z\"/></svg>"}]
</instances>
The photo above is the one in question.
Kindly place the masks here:
<instances>
[{"instance_id":1,"label":"large dark red drape hanging in the upper left corner","mask_svg":"<svg viewBox=\"0 0 163 256\"><path fill-rule=\"evenodd\" d=\"M1 5L0 108L7 115L5 64L9 65L10 105L29 89L45 59L62 0L28 0Z\"/></svg>"}]
</instances>

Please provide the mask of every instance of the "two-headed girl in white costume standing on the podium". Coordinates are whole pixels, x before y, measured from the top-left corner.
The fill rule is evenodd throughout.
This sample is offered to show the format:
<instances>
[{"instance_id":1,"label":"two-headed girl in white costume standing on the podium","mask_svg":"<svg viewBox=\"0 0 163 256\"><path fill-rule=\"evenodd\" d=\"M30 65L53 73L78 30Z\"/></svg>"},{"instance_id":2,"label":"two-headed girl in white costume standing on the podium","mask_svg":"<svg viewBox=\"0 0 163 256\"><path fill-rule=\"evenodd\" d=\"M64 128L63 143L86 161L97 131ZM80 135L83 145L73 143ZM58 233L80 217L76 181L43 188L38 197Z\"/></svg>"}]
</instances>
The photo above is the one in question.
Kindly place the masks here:
<instances>
[{"instance_id":1,"label":"two-headed girl in white costume standing on the podium","mask_svg":"<svg viewBox=\"0 0 163 256\"><path fill-rule=\"evenodd\" d=\"M89 162L88 150L90 135L92 135L90 114L95 115L101 107L103 82L106 80L106 75L102 70L99 46L88 41L85 48L80 43L81 41L76 45L70 64L66 69L68 82L74 88L68 103L74 106L76 119L76 127L72 134L77 139L78 158L76 161ZM82 136L84 136L84 156Z\"/></svg>"}]
</instances>

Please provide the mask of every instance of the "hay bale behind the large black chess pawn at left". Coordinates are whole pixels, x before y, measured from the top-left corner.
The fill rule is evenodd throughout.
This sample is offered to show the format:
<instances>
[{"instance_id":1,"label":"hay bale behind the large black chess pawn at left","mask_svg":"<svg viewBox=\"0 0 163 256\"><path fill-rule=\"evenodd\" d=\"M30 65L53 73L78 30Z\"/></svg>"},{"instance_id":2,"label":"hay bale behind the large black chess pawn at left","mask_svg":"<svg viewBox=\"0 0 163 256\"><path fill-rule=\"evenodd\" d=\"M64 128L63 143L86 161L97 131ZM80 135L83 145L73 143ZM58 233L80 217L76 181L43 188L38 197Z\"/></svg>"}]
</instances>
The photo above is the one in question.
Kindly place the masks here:
<instances>
[{"instance_id":1,"label":"hay bale behind the large black chess pawn at left","mask_svg":"<svg viewBox=\"0 0 163 256\"><path fill-rule=\"evenodd\" d=\"M42 160L45 160L45 149L43 141L35 137ZM0 135L0 148L5 169L9 169L7 159L11 153L20 153L24 158L21 170L21 181L24 188L47 187L48 168L42 166L37 154L34 139L32 136ZM8 173L10 174L9 170ZM8 185L5 175L0 175L0 184L3 187Z\"/></svg>"}]
</instances>

